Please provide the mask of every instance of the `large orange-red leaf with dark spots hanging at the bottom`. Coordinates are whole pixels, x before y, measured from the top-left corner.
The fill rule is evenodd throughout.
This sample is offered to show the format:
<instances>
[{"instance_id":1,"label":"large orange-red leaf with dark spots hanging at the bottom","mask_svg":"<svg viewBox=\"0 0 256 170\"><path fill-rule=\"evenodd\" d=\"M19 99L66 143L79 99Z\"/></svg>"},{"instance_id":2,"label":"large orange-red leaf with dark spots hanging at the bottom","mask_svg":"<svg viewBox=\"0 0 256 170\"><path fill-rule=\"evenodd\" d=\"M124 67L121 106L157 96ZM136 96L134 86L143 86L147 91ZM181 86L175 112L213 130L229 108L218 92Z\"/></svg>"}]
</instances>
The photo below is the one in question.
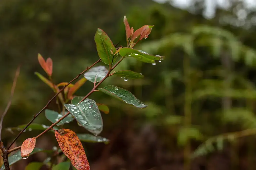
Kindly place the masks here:
<instances>
[{"instance_id":1,"label":"large orange-red leaf with dark spots hanging at the bottom","mask_svg":"<svg viewBox=\"0 0 256 170\"><path fill-rule=\"evenodd\" d=\"M90 170L83 145L75 132L70 129L60 129L55 131L55 137L60 149L77 170Z\"/></svg>"}]
</instances>

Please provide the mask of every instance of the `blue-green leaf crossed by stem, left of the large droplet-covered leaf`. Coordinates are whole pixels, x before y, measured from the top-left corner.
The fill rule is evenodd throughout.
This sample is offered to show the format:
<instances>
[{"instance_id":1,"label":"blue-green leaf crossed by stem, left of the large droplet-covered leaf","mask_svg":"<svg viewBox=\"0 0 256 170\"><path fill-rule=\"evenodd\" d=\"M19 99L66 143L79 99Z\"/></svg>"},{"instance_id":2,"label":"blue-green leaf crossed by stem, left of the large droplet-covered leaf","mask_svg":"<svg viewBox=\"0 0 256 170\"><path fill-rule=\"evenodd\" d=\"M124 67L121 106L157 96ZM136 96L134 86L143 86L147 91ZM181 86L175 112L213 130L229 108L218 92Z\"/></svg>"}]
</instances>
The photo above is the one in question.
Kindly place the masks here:
<instances>
[{"instance_id":1,"label":"blue-green leaf crossed by stem, left of the large droplet-covered leaf","mask_svg":"<svg viewBox=\"0 0 256 170\"><path fill-rule=\"evenodd\" d=\"M67 114L68 112L65 112L65 114ZM51 123L55 123L57 122L63 115L59 114L58 112L55 112L53 110L49 110L46 109L45 110L45 117L50 120ZM63 120L61 120L57 126L63 125L64 123L69 123L72 122L74 120L74 118L72 117L72 115L68 115L67 117L65 117Z\"/></svg>"}]
</instances>

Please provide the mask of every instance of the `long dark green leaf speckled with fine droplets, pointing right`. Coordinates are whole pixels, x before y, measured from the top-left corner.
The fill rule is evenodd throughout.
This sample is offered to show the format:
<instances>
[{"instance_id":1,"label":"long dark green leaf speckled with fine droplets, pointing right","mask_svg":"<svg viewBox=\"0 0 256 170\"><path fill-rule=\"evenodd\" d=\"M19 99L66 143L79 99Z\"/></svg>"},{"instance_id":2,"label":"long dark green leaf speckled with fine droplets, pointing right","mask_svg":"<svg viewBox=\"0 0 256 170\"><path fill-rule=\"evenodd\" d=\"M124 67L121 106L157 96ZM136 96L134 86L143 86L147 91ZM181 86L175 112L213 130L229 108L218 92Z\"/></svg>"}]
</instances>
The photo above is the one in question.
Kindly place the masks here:
<instances>
[{"instance_id":1,"label":"long dark green leaf speckled with fine droplets, pointing right","mask_svg":"<svg viewBox=\"0 0 256 170\"><path fill-rule=\"evenodd\" d=\"M101 92L108 94L116 99L119 99L127 104L133 105L138 108L145 108L147 105L142 103L139 99L137 99L131 92L122 89L120 87L116 87L114 85L109 85L102 88L98 88Z\"/></svg>"}]
</instances>

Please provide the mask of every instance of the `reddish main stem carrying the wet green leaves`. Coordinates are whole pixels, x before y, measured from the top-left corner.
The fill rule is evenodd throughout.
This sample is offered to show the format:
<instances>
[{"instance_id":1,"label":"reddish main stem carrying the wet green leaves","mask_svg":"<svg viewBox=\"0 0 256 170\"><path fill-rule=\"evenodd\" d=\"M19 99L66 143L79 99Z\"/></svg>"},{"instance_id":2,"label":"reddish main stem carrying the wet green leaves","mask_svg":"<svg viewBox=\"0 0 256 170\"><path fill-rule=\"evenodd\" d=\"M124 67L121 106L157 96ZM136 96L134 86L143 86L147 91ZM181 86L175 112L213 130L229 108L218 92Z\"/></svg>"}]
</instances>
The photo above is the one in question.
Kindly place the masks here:
<instances>
[{"instance_id":1,"label":"reddish main stem carrying the wet green leaves","mask_svg":"<svg viewBox=\"0 0 256 170\"><path fill-rule=\"evenodd\" d=\"M110 66L110 69L108 71L108 74L80 101L84 101L86 98L88 98L94 91L95 89L106 79L108 78L110 72L124 59L124 57L122 57L112 68ZM92 66L91 66L92 67ZM79 103L80 103L79 102ZM40 136L44 135L46 132L48 132L49 130L51 130L54 126L56 126L61 120L63 120L65 117L67 117L70 114L70 112L68 112L67 114L65 114L64 116L62 116L57 122L55 122L54 124L52 124L50 127L48 127L45 131L43 131L42 133L40 133L39 135L37 135L35 138L39 138ZM13 151L16 151L18 149L20 149L21 146L15 147L11 150L8 151L8 153L11 153Z\"/></svg>"}]
</instances>

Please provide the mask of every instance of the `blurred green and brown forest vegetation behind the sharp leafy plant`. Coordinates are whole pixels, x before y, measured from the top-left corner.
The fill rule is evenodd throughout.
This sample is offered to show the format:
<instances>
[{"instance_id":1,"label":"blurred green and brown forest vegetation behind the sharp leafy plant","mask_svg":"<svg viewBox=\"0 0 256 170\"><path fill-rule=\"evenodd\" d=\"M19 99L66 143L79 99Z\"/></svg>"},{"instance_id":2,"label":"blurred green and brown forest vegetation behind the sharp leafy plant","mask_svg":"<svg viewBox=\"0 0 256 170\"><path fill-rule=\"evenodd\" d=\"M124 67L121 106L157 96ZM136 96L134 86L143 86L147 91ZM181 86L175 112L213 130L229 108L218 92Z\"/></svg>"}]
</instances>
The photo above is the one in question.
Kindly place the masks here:
<instances>
[{"instance_id":1,"label":"blurred green and brown forest vegetation behind the sharp leafy plant","mask_svg":"<svg viewBox=\"0 0 256 170\"><path fill-rule=\"evenodd\" d=\"M120 45L126 46L126 15L134 29L154 25L136 48L166 58L156 65L126 58L118 67L145 78L124 81L112 76L101 85L111 82L129 90L148 104L145 109L92 94L90 98L110 107L110 113L102 115L101 133L110 143L83 142L91 169L256 169L256 9L234 1L229 9L217 8L212 19L202 15L204 9L204 1L182 10L150 0L2 0L0 113L21 64L4 127L29 122L54 95L34 74L43 73L37 53L52 58L55 83L68 82L98 60L97 28L114 44L122 40ZM92 86L85 83L76 95L84 96ZM56 103L49 109L57 111ZM35 123L51 125L44 114ZM65 128L85 132L75 121ZM3 141L11 142L17 133L3 131ZM24 132L16 145L38 133ZM54 134L47 133L37 145L52 149L58 146L53 139ZM24 169L45 157L37 153L12 168Z\"/></svg>"}]
</instances>

